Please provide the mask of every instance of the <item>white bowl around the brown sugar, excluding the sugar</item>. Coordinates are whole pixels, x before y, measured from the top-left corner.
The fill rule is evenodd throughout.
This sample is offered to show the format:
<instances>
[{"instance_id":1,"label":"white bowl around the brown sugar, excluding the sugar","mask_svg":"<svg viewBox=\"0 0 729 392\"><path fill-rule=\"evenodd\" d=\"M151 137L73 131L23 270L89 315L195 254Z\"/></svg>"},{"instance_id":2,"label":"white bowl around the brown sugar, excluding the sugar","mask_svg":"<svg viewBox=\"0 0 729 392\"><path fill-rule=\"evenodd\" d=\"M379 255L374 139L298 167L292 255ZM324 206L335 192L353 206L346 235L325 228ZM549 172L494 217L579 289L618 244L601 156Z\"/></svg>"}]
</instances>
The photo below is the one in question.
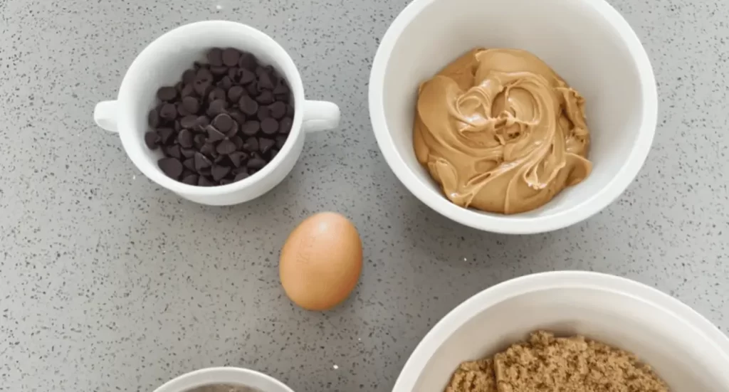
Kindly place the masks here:
<instances>
[{"instance_id":1,"label":"white bowl around the brown sugar, excluding the sugar","mask_svg":"<svg viewBox=\"0 0 729 392\"><path fill-rule=\"evenodd\" d=\"M635 353L672 392L729 391L729 339L662 292L588 272L527 275L481 291L426 334L394 392L443 392L461 361L491 356L529 332L583 334Z\"/></svg>"}]
</instances>

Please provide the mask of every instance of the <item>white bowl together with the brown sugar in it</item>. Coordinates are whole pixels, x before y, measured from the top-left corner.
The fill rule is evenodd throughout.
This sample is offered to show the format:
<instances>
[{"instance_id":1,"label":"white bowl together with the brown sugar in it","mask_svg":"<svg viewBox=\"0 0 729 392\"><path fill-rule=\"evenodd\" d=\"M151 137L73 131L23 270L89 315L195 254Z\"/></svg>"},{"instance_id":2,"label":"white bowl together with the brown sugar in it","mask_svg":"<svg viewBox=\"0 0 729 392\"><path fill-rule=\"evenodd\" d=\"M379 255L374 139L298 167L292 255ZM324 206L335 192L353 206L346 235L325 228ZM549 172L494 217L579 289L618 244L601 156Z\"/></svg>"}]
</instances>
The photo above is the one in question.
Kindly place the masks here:
<instances>
[{"instance_id":1,"label":"white bowl together with the brown sugar in it","mask_svg":"<svg viewBox=\"0 0 729 392\"><path fill-rule=\"evenodd\" d=\"M393 392L729 391L729 339L667 294L612 275L500 283L439 321Z\"/></svg>"}]
</instances>

